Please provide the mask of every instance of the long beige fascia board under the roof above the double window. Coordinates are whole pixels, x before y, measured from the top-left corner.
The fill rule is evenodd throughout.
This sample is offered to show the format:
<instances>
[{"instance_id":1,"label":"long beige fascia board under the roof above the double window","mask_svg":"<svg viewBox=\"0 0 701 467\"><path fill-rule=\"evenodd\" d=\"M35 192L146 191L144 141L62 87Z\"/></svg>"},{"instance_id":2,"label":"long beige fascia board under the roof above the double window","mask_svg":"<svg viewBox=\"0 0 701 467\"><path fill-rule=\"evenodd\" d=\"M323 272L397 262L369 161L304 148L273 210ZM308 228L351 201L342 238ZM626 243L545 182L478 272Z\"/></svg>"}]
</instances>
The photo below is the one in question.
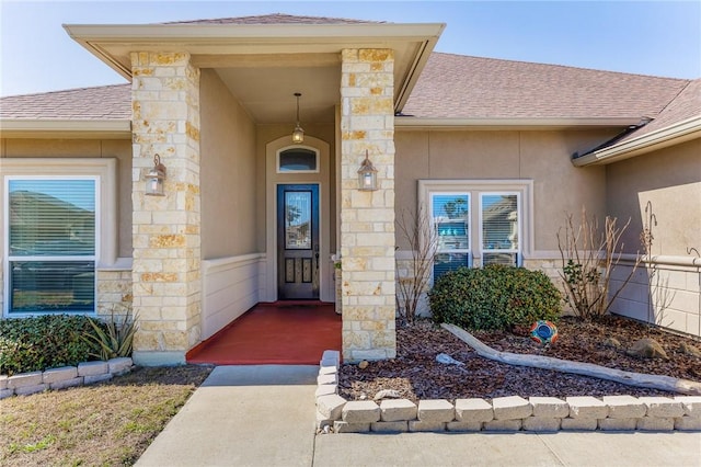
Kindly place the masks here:
<instances>
[{"instance_id":1,"label":"long beige fascia board under the roof above the double window","mask_svg":"<svg viewBox=\"0 0 701 467\"><path fill-rule=\"evenodd\" d=\"M422 118L411 116L395 116L394 126L398 128L423 129L423 128L582 128L582 127L624 127L640 122L636 117L616 117L616 118L573 118L573 117L554 117L554 118Z\"/></svg>"}]
</instances>

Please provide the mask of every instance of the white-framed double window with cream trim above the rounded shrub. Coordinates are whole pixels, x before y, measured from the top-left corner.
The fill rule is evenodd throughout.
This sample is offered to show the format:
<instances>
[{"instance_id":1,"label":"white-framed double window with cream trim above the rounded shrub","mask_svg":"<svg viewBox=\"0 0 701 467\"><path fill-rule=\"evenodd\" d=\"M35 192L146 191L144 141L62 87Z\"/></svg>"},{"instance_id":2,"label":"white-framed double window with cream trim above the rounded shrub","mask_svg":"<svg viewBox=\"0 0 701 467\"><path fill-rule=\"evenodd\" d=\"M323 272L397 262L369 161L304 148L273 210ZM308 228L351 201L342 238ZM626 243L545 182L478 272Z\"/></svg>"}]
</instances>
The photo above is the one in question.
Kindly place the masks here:
<instances>
[{"instance_id":1,"label":"white-framed double window with cream trim above the rounded shrub","mask_svg":"<svg viewBox=\"0 0 701 467\"><path fill-rule=\"evenodd\" d=\"M434 281L461 266L521 265L531 187L530 180L420 180L437 239Z\"/></svg>"}]
</instances>

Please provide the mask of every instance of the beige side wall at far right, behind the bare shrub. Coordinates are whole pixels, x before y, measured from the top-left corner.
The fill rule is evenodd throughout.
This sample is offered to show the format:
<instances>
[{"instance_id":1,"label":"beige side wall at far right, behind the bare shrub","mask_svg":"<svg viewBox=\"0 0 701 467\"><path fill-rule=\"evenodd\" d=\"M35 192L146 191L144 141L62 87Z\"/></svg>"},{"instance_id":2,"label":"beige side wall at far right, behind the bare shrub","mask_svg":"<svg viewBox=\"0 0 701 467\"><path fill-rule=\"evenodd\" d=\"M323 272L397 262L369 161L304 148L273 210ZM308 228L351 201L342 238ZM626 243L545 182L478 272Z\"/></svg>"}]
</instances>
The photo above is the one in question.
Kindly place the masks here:
<instances>
[{"instance_id":1,"label":"beige side wall at far right, behind the bare shrub","mask_svg":"<svg viewBox=\"0 0 701 467\"><path fill-rule=\"evenodd\" d=\"M609 214L631 218L625 251L644 251L640 234L646 225L653 235L651 261L641 264L612 311L693 335L701 335L700 155L696 139L607 166ZM617 272L614 287L628 271Z\"/></svg>"}]
</instances>

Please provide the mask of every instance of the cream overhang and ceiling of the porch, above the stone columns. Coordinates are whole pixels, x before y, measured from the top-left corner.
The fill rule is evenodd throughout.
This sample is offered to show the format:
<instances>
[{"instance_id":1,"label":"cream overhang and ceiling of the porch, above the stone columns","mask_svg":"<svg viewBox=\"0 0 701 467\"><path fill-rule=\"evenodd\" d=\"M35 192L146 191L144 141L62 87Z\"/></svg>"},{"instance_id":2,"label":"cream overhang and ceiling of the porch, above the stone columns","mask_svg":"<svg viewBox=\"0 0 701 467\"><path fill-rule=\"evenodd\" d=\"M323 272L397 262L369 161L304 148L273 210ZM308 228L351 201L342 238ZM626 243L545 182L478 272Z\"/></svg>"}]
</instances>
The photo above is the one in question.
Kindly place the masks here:
<instances>
[{"instance_id":1,"label":"cream overhang and ceiling of the porch, above the stone columns","mask_svg":"<svg viewBox=\"0 0 701 467\"><path fill-rule=\"evenodd\" d=\"M341 50L392 48L400 111L445 24L65 25L68 34L127 79L131 52L187 52L214 68L257 123L332 122L341 101Z\"/></svg>"}]
</instances>

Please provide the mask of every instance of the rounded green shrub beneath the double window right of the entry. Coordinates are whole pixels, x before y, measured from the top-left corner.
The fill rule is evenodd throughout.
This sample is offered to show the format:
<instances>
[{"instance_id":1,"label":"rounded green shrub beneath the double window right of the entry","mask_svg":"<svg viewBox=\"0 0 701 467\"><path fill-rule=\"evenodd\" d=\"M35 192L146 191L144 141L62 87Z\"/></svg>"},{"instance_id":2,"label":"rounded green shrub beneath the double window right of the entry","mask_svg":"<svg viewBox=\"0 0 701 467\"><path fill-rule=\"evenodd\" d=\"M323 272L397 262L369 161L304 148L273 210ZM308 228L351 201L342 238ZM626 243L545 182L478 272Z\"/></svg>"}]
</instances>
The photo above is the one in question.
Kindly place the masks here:
<instances>
[{"instance_id":1,"label":"rounded green shrub beneath the double window right of the entry","mask_svg":"<svg viewBox=\"0 0 701 467\"><path fill-rule=\"evenodd\" d=\"M428 303L436 322L493 330L555 321L562 296L540 271L493 264L444 274L428 293Z\"/></svg>"}]
</instances>

